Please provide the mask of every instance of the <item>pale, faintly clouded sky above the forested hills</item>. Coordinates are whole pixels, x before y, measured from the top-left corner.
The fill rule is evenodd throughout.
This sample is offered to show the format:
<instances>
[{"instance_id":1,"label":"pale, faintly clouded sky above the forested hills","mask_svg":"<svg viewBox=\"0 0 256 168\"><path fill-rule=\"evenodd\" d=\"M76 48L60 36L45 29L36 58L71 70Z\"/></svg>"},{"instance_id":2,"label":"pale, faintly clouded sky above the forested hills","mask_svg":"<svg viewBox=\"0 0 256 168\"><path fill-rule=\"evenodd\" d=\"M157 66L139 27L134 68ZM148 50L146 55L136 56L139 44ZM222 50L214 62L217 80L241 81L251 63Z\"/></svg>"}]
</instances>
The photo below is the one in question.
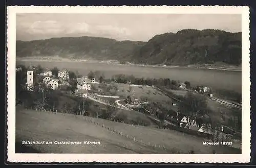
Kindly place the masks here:
<instances>
[{"instance_id":1,"label":"pale, faintly clouded sky above the forested hills","mask_svg":"<svg viewBox=\"0 0 256 168\"><path fill-rule=\"evenodd\" d=\"M16 15L16 40L53 37L105 37L148 41L158 34L182 29L242 31L239 14L66 14Z\"/></svg>"}]
</instances>

